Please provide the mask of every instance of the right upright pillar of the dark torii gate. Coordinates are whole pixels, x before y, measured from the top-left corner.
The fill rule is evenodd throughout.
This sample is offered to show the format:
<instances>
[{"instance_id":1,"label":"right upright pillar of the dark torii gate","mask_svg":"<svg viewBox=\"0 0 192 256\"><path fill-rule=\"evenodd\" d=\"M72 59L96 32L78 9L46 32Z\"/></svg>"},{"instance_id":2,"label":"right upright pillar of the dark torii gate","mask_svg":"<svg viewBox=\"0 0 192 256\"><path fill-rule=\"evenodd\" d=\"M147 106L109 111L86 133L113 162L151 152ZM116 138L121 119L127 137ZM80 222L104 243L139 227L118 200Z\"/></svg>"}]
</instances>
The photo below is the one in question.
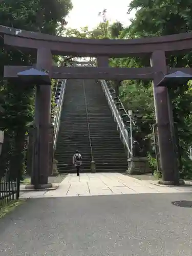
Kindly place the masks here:
<instances>
[{"instance_id":1,"label":"right upright pillar of the dark torii gate","mask_svg":"<svg viewBox=\"0 0 192 256\"><path fill-rule=\"evenodd\" d=\"M154 74L154 103L158 127L158 140L162 178L165 184L177 184L177 159L174 151L172 132L170 127L170 108L166 87L157 87L158 82L167 73L166 58L163 51L152 54L151 66Z\"/></svg>"}]
</instances>

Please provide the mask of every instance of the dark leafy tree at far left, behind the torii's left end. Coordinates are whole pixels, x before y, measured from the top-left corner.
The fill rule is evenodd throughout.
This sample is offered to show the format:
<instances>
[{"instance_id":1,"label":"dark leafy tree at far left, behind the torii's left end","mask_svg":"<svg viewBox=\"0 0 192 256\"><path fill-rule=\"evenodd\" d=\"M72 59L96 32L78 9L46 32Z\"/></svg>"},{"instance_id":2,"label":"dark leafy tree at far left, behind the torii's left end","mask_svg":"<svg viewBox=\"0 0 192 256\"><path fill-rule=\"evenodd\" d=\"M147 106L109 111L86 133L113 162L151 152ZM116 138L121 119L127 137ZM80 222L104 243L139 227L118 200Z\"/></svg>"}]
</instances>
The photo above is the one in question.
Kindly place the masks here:
<instances>
[{"instance_id":1,"label":"dark leafy tree at far left, behind the torii's left end","mask_svg":"<svg viewBox=\"0 0 192 256\"><path fill-rule=\"evenodd\" d=\"M65 17L71 9L70 0L7 0L0 6L0 23L8 27L56 34L58 24L65 22ZM12 143L11 153L10 150L4 152L5 156L11 154L9 170L12 174L23 167L26 125L33 120L34 90L5 81L4 65L30 65L34 63L35 58L36 56L26 55L15 49L7 51L3 48L0 51L0 101L5 109L1 114L0 123L8 142Z\"/></svg>"}]
</instances>

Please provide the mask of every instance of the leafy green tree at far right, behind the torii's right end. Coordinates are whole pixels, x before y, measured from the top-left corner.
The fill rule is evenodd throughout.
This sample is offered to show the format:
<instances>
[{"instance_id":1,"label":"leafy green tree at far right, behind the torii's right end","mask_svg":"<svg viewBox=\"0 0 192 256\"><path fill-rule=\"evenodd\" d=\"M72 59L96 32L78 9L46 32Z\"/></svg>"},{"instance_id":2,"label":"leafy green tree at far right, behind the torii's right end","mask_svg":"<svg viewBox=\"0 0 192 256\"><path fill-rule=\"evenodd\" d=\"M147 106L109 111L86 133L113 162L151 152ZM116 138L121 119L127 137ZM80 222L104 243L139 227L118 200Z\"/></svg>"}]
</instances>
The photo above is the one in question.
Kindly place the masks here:
<instances>
[{"instance_id":1,"label":"leafy green tree at far right, behind the torii's right end","mask_svg":"<svg viewBox=\"0 0 192 256\"><path fill-rule=\"evenodd\" d=\"M132 19L129 28L130 38L176 34L188 32L192 29L192 8L189 0L133 0L128 12L132 10L136 10L136 17ZM167 58L167 65L190 67L192 64L190 57L191 54L170 56ZM140 67L148 66L145 59L137 59L136 62ZM192 143L191 91L188 84L185 84L183 87L170 89L169 94L174 105L174 122L175 126L178 127L181 146L183 160L181 177L191 177L191 164L186 163L188 160L188 146Z\"/></svg>"}]
</instances>

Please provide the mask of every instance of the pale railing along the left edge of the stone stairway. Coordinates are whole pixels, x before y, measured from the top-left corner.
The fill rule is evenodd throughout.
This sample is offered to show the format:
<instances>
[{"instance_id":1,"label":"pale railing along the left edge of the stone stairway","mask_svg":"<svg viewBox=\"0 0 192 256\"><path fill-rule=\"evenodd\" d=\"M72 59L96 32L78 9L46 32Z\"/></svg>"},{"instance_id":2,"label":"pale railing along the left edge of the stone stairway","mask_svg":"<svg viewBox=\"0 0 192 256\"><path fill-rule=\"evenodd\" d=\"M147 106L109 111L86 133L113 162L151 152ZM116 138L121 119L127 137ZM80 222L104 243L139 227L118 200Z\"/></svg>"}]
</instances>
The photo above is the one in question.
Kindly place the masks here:
<instances>
[{"instance_id":1,"label":"pale railing along the left edge of the stone stairway","mask_svg":"<svg viewBox=\"0 0 192 256\"><path fill-rule=\"evenodd\" d=\"M58 82L59 82L59 80L58 80ZM57 85L58 85L58 82L57 82ZM54 118L54 140L53 140L54 141L53 142L54 150L56 149L56 143L57 143L57 136L58 136L59 125L60 125L60 116L61 116L63 98L64 98L65 91L66 91L66 82L67 82L66 79L62 80L60 100L59 100L58 105L56 107L56 114L55 114L55 118Z\"/></svg>"}]
</instances>

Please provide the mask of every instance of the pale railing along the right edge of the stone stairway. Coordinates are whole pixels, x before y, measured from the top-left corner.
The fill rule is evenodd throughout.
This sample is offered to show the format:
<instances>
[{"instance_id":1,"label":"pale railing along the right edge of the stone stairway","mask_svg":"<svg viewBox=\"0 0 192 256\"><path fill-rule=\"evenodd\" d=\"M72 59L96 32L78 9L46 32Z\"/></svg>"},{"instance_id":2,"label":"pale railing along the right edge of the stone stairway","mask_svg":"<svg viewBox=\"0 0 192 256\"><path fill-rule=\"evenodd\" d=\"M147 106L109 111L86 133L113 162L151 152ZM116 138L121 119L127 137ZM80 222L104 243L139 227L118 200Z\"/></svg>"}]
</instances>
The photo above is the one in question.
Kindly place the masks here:
<instances>
[{"instance_id":1,"label":"pale railing along the right edge of the stone stairway","mask_svg":"<svg viewBox=\"0 0 192 256\"><path fill-rule=\"evenodd\" d=\"M100 80L100 81L101 81L101 85L102 85L104 94L106 96L106 99L108 100L108 104L109 104L112 114L114 116L114 119L117 123L117 129L120 131L120 137L122 139L123 146L126 147L128 158L129 158L130 154L132 154L132 152L130 150L130 146L129 146L129 134L125 129L124 122L123 122L121 116L119 115L119 111L114 102L114 99L112 98L112 95L111 95L110 90L106 84L106 81L105 80Z\"/></svg>"}]
</instances>

